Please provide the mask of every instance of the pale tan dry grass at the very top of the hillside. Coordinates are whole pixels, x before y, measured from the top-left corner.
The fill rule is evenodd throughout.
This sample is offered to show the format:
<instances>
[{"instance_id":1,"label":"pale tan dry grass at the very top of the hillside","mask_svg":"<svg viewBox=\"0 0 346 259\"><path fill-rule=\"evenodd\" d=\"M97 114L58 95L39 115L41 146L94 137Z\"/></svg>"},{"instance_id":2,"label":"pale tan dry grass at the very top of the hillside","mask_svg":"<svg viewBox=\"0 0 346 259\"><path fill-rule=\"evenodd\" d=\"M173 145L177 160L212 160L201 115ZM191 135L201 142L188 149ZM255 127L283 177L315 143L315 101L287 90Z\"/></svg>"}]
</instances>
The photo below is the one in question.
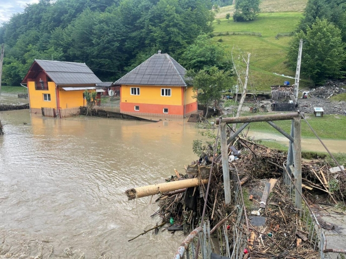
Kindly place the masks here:
<instances>
[{"instance_id":1,"label":"pale tan dry grass at the very top of the hillside","mask_svg":"<svg viewBox=\"0 0 346 259\"><path fill-rule=\"evenodd\" d=\"M307 0L262 0L261 12L302 12ZM220 8L216 18L225 18L226 13L231 16L234 12L234 5L228 5Z\"/></svg>"}]
</instances>

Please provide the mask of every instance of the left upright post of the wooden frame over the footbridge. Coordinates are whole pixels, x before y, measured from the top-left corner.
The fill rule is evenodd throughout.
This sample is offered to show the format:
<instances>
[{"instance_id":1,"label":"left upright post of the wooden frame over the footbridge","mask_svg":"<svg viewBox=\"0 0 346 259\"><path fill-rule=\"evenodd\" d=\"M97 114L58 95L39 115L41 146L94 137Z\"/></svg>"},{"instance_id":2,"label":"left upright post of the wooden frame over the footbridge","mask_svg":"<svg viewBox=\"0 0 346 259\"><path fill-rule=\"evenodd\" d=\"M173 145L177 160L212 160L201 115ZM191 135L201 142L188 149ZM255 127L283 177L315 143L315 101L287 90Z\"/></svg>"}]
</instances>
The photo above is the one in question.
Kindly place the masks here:
<instances>
[{"instance_id":1,"label":"left upright post of the wooden frame over the footbridge","mask_svg":"<svg viewBox=\"0 0 346 259\"><path fill-rule=\"evenodd\" d=\"M221 119L220 119L221 120ZM225 189L225 203L231 203L231 182L230 182L230 165L228 161L228 145L227 145L227 133L226 123L220 123L221 130L221 158L222 158L222 170L224 174L224 189Z\"/></svg>"}]
</instances>

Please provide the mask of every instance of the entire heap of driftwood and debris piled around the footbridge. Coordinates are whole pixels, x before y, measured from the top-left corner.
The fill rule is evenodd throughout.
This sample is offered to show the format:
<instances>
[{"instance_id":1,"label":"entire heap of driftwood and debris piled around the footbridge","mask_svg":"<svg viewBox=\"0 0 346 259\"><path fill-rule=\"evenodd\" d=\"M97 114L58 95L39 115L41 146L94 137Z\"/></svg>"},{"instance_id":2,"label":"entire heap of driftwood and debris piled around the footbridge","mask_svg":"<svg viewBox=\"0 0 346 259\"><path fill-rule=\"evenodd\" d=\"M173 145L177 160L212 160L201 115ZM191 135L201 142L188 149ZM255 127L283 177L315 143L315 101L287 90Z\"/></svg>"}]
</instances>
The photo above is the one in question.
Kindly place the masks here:
<instances>
[{"instance_id":1,"label":"entire heap of driftwood and debris piled around the footbridge","mask_svg":"<svg viewBox=\"0 0 346 259\"><path fill-rule=\"evenodd\" d=\"M241 152L237 152L237 151ZM211 228L227 218L228 239L218 234L220 253L227 255L226 247L235 247L237 234L233 225L248 236L247 253L252 259L257 258L319 258L315 248L315 237L307 238L309 225L302 222L299 211L287 193L282 176L287 155L263 145L237 137L229 150L230 174L238 173L240 185L243 186L243 204L246 207L246 224L236 224L241 204L225 205L223 169L220 153L214 154L216 159L213 168L209 161L213 154L201 157L185 167L185 173L175 170L175 175L166 179L167 183L181 186L187 180L195 179L198 185L189 185L170 191L160 191L162 185L148 186L144 191L134 188L126 191L129 198L159 194L156 199L159 210L152 217L159 215L162 222L169 223L164 228L171 231L182 230L190 233L201 222L206 187L211 170L210 189L206 206L206 218ZM202 165L203 164L203 165ZM310 161L302 163L303 188L329 195L334 202L346 195L346 177L337 168L329 169L326 161ZM267 179L270 179L268 181ZM236 179L236 178L234 178ZM269 184L270 183L270 184ZM236 184L231 182L231 193L236 192ZM338 187L339 186L339 187ZM150 188L149 188L150 187ZM155 188L154 188L155 187ZM268 188L267 188L268 187ZM141 187L144 188L144 187ZM339 189L338 189L339 188ZM151 192L147 192L152 190ZM339 191L339 192L338 192ZM154 193L155 192L155 193ZM150 193L150 194L149 194ZM245 216L245 215L243 215ZM161 223L161 225L163 224ZM159 228L160 225L156 229ZM232 227L230 227L232 226ZM249 228L247 229L247 226ZM226 226L225 226L226 227ZM155 227L154 227L155 228ZM226 228L225 228L226 229ZM217 233L219 231L216 231ZM225 241L228 240L228 241ZM228 242L228 245L227 243Z\"/></svg>"}]
</instances>

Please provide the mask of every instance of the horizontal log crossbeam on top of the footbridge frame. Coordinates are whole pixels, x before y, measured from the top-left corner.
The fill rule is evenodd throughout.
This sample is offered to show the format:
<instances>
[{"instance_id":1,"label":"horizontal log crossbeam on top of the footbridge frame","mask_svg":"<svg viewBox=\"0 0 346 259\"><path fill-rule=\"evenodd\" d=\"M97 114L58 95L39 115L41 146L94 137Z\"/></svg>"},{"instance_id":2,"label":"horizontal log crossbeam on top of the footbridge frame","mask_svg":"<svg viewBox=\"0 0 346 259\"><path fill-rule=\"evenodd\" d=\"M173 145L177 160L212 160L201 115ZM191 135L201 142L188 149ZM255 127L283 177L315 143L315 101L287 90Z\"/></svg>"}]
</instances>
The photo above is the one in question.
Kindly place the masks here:
<instances>
[{"instance_id":1,"label":"horizontal log crossbeam on top of the footbridge frame","mask_svg":"<svg viewBox=\"0 0 346 259\"><path fill-rule=\"evenodd\" d=\"M300 118L302 112L292 112L286 114L269 114L257 116L244 116L244 117L231 117L222 118L222 122L226 123L244 123L244 122L261 122L261 121L276 121L276 120L291 120L293 118ZM220 123L220 119L216 119L216 124Z\"/></svg>"}]
</instances>

